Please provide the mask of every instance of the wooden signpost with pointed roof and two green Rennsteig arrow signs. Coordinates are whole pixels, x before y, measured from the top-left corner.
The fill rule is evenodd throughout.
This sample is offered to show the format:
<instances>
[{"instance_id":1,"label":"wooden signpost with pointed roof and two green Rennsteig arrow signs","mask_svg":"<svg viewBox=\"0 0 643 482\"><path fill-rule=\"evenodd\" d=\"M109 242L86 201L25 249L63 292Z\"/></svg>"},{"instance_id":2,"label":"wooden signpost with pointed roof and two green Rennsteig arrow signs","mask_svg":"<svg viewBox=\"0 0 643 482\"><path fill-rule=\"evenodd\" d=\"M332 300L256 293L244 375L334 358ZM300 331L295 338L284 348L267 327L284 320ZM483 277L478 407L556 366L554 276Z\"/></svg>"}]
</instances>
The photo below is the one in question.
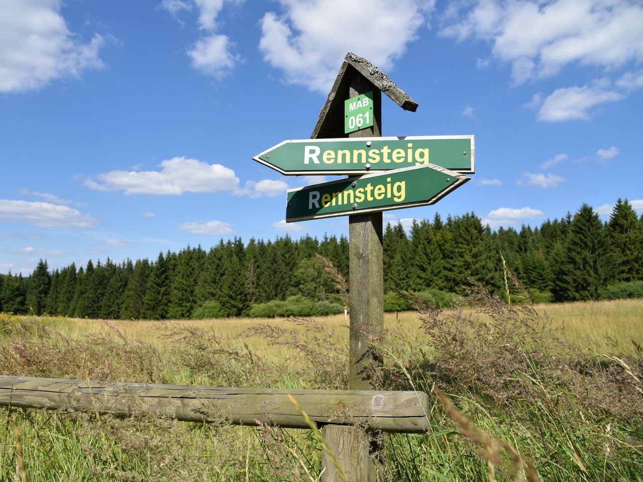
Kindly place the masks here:
<instances>
[{"instance_id":1,"label":"wooden signpost with pointed roof and two green Rennsteig arrow signs","mask_svg":"<svg viewBox=\"0 0 643 482\"><path fill-rule=\"evenodd\" d=\"M382 211L433 204L475 172L473 136L382 138L382 96L418 105L367 59L348 53L311 139L284 141L253 157L286 175L349 174L289 190L286 221L349 215L349 389L380 389L384 330ZM365 429L324 425L323 436L350 482L381 480L377 438ZM324 454L323 481L340 474Z\"/></svg>"}]
</instances>

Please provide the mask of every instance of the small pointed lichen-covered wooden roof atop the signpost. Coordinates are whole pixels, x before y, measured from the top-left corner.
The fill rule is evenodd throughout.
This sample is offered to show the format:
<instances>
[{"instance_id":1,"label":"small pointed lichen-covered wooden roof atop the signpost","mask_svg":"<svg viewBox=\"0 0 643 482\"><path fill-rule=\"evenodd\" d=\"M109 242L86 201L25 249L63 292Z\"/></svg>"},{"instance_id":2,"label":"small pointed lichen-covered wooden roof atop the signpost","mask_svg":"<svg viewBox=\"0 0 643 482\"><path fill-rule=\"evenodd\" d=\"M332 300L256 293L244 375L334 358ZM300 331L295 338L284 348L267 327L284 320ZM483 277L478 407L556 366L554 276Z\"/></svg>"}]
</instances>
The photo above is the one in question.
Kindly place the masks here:
<instances>
[{"instance_id":1,"label":"small pointed lichen-covered wooden roof atop the signpost","mask_svg":"<svg viewBox=\"0 0 643 482\"><path fill-rule=\"evenodd\" d=\"M371 64L366 58L349 52L346 54L343 64L341 64L334 84L332 84L328 100L321 108L317 125L312 130L311 139L348 137L344 132L344 124L341 120L344 116L344 101L349 98L350 83L356 72L365 76L374 87L385 93L405 111L415 112L417 109L417 102L397 87L397 84L388 75Z\"/></svg>"}]
</instances>

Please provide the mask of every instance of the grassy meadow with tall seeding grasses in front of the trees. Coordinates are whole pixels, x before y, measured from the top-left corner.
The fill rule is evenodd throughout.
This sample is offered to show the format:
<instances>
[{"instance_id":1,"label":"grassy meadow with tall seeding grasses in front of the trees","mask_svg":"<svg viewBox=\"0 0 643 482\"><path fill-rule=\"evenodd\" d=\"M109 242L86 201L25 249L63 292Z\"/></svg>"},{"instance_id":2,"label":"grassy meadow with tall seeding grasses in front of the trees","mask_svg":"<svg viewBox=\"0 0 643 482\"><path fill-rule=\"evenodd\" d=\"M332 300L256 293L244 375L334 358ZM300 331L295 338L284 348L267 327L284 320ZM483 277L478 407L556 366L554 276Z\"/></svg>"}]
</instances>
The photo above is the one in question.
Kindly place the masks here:
<instances>
[{"instance_id":1,"label":"grassy meadow with tall seeding grasses in front of the trees","mask_svg":"<svg viewBox=\"0 0 643 482\"><path fill-rule=\"evenodd\" d=\"M540 479L643 481L643 352L632 343L643 344L643 300L538 305L536 313L498 305L484 293L471 303L462 313L385 315L384 388L408 389L413 382L431 396L428 434L386 436L386 479L529 476L502 445L471 427L463 434L456 419L465 416L460 423L471 420L533 460ZM347 379L343 315L316 325L239 318L109 327L43 317L41 325L21 318L15 326L4 319L2 374L340 389ZM445 411L434 388L459 412ZM15 422L0 409L0 482L21 480L16 434L31 481L320 476L320 443L310 431L151 416L13 415Z\"/></svg>"}]
</instances>

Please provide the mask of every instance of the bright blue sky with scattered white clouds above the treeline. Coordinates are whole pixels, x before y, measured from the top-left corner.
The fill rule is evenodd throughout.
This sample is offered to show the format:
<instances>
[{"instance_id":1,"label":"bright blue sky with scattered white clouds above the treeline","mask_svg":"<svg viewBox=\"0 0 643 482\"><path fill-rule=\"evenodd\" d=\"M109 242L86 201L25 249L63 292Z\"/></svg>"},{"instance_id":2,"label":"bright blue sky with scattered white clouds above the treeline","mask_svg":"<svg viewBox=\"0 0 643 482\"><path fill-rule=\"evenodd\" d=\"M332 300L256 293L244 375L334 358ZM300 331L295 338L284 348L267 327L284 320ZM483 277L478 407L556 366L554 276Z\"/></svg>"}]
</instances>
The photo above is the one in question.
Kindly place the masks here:
<instances>
[{"instance_id":1,"label":"bright blue sky with scattered white clouds above the treeline","mask_svg":"<svg viewBox=\"0 0 643 482\"><path fill-rule=\"evenodd\" d=\"M643 213L642 26L637 0L0 0L0 272L347 233L286 225L320 179L251 160L309 138L347 51L419 103L384 98L383 135L476 136L472 181L385 220Z\"/></svg>"}]
</instances>

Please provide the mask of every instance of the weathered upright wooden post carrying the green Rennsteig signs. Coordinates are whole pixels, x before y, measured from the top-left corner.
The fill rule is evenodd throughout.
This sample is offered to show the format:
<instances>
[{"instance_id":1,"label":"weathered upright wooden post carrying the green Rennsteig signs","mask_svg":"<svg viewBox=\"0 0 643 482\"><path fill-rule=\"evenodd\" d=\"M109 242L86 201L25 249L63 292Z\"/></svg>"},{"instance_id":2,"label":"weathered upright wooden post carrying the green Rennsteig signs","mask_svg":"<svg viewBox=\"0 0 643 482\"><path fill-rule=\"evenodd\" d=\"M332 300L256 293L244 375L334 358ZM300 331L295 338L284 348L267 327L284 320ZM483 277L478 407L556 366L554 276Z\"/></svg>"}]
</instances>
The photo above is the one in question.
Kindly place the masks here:
<instances>
[{"instance_id":1,"label":"weathered upright wooden post carrying the green Rennsteig signs","mask_svg":"<svg viewBox=\"0 0 643 482\"><path fill-rule=\"evenodd\" d=\"M382 95L361 73L355 72L349 97L373 91L372 127L349 134L350 138L381 137ZM382 213L349 217L349 389L379 388L381 355L369 343L384 330L384 272L382 262ZM358 427L325 425L323 436L340 462L349 482L381 479L379 449L372 433ZM324 482L340 482L327 456L321 459Z\"/></svg>"}]
</instances>

